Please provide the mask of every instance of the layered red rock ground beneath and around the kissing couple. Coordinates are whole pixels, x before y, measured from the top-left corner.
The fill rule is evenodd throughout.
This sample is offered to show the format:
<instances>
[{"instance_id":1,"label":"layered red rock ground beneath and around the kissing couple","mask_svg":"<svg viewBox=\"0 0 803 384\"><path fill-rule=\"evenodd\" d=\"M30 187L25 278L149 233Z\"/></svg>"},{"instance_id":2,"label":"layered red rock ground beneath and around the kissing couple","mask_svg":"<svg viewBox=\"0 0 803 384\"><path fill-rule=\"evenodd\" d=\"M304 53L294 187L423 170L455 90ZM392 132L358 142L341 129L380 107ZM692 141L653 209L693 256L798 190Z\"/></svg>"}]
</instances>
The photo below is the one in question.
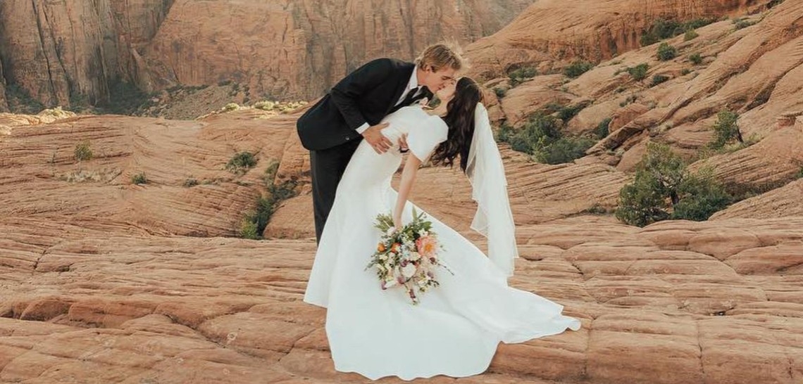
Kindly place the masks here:
<instances>
[{"instance_id":1,"label":"layered red rock ground beneath and around the kissing couple","mask_svg":"<svg viewBox=\"0 0 803 384\"><path fill-rule=\"evenodd\" d=\"M297 113L0 115L0 382L369 382L333 369L325 311L301 301L315 242ZM241 150L255 168L226 171ZM803 380L803 216L634 228L581 213L612 204L615 168L503 158L522 256L510 284L583 328L501 345L455 382ZM273 160L302 195L271 225L299 239L223 237ZM425 168L413 200L484 247L459 172Z\"/></svg>"}]
</instances>

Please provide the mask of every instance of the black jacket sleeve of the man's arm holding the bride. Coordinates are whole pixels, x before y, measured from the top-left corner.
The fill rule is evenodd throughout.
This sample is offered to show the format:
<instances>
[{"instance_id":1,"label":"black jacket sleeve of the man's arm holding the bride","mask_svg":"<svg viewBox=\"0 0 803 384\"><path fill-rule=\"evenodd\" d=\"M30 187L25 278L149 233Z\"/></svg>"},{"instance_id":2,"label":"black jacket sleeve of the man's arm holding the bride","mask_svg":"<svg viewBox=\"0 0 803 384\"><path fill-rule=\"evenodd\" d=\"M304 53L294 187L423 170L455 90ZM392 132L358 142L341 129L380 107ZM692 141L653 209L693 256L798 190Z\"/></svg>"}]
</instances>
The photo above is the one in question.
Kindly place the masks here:
<instances>
[{"instance_id":1,"label":"black jacket sleeve of the man's arm holding the bride","mask_svg":"<svg viewBox=\"0 0 803 384\"><path fill-rule=\"evenodd\" d=\"M356 130L367 123L357 99L384 83L391 75L393 63L389 59L376 59L357 68L332 87L332 102L350 128Z\"/></svg>"}]
</instances>

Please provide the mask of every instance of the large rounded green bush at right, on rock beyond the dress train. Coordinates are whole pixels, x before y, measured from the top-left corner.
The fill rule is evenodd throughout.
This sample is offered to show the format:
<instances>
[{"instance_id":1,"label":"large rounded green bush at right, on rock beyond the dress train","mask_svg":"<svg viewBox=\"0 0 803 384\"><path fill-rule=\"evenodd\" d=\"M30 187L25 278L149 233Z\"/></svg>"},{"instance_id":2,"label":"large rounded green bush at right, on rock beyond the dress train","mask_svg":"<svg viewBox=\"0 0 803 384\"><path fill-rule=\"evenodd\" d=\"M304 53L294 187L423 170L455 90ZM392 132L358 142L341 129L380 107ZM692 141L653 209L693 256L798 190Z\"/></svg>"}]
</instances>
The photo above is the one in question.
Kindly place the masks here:
<instances>
[{"instance_id":1,"label":"large rounded green bush at right, on rock beyond the dress train","mask_svg":"<svg viewBox=\"0 0 803 384\"><path fill-rule=\"evenodd\" d=\"M732 201L710 171L691 174L671 148L649 143L634 180L619 192L616 217L639 227L666 219L700 221Z\"/></svg>"}]
</instances>

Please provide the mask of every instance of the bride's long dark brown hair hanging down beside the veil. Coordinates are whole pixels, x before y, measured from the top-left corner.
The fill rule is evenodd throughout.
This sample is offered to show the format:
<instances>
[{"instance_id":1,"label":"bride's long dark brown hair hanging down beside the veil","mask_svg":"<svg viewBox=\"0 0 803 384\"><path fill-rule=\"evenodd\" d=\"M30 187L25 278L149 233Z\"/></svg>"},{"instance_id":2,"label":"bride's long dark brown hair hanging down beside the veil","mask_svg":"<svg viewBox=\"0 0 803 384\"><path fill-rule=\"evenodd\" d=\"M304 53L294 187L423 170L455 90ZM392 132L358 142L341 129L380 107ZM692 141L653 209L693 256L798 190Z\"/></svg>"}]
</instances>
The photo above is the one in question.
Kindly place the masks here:
<instances>
[{"instance_id":1,"label":"bride's long dark brown hair hanging down beside the veil","mask_svg":"<svg viewBox=\"0 0 803 384\"><path fill-rule=\"evenodd\" d=\"M449 127L446 141L432 154L432 164L451 167L460 155L460 169L466 172L468 150L474 137L474 110L483 101L483 92L474 80L463 77L454 87L454 97L446 104L443 121Z\"/></svg>"}]
</instances>

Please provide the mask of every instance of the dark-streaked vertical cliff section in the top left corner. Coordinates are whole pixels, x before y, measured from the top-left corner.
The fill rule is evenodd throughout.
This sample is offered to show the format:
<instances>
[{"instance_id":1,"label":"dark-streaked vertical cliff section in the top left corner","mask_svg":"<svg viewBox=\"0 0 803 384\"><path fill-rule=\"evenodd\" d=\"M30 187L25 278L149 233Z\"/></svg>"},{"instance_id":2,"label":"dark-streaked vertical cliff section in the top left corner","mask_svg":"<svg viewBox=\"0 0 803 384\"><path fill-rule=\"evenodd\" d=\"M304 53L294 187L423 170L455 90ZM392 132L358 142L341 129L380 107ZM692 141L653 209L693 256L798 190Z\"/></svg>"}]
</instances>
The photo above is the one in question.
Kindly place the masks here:
<instances>
[{"instance_id":1,"label":"dark-streaked vertical cliff section in the top left corner","mask_svg":"<svg viewBox=\"0 0 803 384\"><path fill-rule=\"evenodd\" d=\"M5 79L46 106L108 98L116 79L136 82L137 46L149 41L172 0L0 3Z\"/></svg>"}]
</instances>

